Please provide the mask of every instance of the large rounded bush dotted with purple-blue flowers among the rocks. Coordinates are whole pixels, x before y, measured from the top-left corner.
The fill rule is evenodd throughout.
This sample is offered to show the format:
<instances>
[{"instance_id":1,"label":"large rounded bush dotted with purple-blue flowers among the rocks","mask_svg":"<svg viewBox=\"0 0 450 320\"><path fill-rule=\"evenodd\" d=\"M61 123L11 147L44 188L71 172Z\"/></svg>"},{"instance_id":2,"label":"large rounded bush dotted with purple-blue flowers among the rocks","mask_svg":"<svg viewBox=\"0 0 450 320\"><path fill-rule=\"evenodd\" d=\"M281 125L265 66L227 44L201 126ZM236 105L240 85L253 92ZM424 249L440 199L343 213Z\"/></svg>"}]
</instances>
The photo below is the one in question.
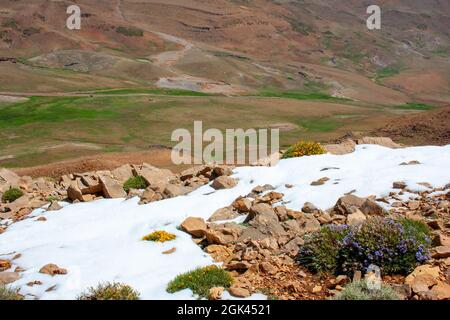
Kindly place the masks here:
<instances>
[{"instance_id":1,"label":"large rounded bush dotted with purple-blue flowers among the rocks","mask_svg":"<svg viewBox=\"0 0 450 320\"><path fill-rule=\"evenodd\" d=\"M408 274L429 259L429 230L406 218L372 218L355 226L327 226L308 236L297 261L312 271L352 274L371 264Z\"/></svg>"}]
</instances>

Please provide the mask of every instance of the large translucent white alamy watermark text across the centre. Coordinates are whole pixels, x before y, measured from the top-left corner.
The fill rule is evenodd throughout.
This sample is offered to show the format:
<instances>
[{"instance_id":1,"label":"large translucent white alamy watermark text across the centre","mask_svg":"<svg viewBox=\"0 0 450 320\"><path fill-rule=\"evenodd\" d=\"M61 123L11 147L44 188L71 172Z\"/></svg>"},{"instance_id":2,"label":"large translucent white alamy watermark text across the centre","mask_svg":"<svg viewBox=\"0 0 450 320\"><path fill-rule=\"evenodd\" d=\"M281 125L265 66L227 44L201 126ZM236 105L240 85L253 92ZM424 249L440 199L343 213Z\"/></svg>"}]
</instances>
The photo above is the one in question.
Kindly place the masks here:
<instances>
[{"instance_id":1,"label":"large translucent white alamy watermark text across the centre","mask_svg":"<svg viewBox=\"0 0 450 320\"><path fill-rule=\"evenodd\" d=\"M172 150L174 164L229 164L244 165L265 162L274 165L279 160L279 129L219 129L203 132L203 122L194 121L194 132L176 129L172 141L178 144Z\"/></svg>"}]
</instances>

